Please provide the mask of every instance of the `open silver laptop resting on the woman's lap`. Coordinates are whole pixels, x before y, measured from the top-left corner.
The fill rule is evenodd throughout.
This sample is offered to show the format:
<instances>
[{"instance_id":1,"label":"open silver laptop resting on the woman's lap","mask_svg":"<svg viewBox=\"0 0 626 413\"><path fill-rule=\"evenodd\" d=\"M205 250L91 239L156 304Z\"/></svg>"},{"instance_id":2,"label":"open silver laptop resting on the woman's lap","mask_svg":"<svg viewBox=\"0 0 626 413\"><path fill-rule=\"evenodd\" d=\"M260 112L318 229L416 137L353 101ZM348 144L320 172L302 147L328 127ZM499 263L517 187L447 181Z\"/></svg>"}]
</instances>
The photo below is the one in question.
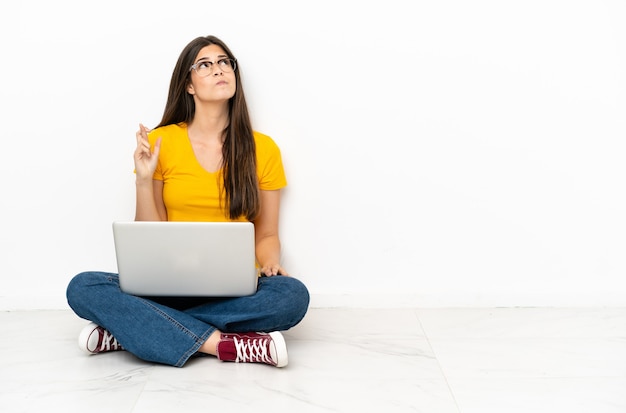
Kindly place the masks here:
<instances>
[{"instance_id":1,"label":"open silver laptop resting on the woman's lap","mask_svg":"<svg viewBox=\"0 0 626 413\"><path fill-rule=\"evenodd\" d=\"M239 297L256 292L251 222L115 221L113 238L126 293Z\"/></svg>"}]
</instances>

